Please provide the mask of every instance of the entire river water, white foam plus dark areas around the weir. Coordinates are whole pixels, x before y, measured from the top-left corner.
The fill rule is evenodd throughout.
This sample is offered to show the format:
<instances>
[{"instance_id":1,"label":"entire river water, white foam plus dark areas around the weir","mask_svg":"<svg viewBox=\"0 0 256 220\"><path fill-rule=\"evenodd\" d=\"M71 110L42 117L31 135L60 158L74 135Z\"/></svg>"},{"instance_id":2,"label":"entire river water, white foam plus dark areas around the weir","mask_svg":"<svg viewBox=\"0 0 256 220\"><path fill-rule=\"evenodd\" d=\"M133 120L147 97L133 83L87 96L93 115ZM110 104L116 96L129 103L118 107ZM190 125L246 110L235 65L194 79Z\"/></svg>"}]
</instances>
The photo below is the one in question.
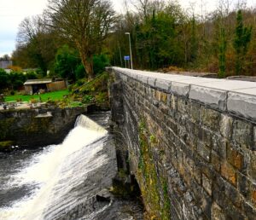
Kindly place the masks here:
<instances>
[{"instance_id":1,"label":"entire river water, white foam plus dark areas around the weir","mask_svg":"<svg viewBox=\"0 0 256 220\"><path fill-rule=\"evenodd\" d=\"M79 116L60 145L0 153L0 219L143 219L137 201L106 190L117 172L108 115Z\"/></svg>"}]
</instances>

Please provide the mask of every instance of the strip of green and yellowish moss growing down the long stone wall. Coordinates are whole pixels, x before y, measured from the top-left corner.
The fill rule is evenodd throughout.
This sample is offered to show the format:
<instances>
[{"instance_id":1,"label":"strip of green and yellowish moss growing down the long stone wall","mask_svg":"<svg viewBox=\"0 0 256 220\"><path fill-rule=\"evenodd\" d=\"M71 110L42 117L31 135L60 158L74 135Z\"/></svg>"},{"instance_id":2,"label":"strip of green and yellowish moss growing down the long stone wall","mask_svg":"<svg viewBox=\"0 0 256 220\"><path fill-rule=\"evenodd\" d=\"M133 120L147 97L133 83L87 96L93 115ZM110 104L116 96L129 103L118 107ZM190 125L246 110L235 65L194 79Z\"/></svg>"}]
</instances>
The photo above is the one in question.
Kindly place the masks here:
<instances>
[{"instance_id":1,"label":"strip of green and yellowish moss growing down the long stone wall","mask_svg":"<svg viewBox=\"0 0 256 220\"><path fill-rule=\"evenodd\" d=\"M144 120L139 124L140 159L137 180L143 195L144 204L150 219L170 219L170 200L166 181L160 181L154 164L152 148L157 142L154 135L148 133ZM160 193L163 192L164 200Z\"/></svg>"}]
</instances>

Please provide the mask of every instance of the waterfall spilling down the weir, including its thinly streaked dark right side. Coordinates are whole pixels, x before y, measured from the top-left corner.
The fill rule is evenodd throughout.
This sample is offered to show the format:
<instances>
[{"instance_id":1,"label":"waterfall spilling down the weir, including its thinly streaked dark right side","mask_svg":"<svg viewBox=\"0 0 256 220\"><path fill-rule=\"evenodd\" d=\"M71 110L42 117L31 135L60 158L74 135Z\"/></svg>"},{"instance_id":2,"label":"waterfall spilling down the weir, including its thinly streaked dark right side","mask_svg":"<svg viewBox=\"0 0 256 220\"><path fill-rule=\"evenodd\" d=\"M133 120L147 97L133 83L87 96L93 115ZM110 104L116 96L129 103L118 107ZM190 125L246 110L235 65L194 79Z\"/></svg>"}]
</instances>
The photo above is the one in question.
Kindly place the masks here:
<instances>
[{"instance_id":1,"label":"waterfall spilling down the weir, including its thinly streaked dark right side","mask_svg":"<svg viewBox=\"0 0 256 220\"><path fill-rule=\"evenodd\" d=\"M64 142L44 148L11 178L10 189L34 187L12 206L0 208L0 219L82 219L106 208L96 205L95 195L111 186L116 172L107 142L108 131L80 115Z\"/></svg>"}]
</instances>

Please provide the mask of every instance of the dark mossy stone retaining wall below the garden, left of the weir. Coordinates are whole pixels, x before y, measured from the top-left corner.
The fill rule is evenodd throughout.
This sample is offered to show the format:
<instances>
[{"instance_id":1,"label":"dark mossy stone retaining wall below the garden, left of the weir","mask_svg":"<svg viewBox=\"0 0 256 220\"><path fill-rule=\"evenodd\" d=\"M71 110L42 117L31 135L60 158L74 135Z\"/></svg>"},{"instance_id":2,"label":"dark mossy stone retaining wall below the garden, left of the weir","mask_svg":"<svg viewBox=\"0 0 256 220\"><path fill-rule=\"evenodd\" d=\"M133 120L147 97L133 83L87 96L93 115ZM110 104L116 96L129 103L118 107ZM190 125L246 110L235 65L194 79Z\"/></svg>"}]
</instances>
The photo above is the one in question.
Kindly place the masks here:
<instances>
[{"instance_id":1,"label":"dark mossy stone retaining wall below the garden, left of the weir","mask_svg":"<svg viewBox=\"0 0 256 220\"><path fill-rule=\"evenodd\" d=\"M37 148L63 141L87 107L0 111L0 143ZM9 147L9 146L5 146Z\"/></svg>"}]
</instances>

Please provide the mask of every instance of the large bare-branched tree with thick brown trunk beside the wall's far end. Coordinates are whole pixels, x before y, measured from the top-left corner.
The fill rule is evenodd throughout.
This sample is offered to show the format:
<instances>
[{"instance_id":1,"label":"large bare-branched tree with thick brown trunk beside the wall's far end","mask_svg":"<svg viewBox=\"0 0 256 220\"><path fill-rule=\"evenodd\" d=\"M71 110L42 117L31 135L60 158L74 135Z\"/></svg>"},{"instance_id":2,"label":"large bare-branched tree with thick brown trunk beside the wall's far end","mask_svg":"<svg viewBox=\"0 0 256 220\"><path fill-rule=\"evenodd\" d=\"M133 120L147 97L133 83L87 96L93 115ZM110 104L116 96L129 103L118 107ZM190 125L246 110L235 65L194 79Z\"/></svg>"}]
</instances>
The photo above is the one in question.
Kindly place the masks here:
<instances>
[{"instance_id":1,"label":"large bare-branched tree with thick brown trunk beside the wall's far end","mask_svg":"<svg viewBox=\"0 0 256 220\"><path fill-rule=\"evenodd\" d=\"M113 24L114 11L108 0L49 0L50 26L75 43L89 80L94 78L93 55Z\"/></svg>"}]
</instances>

